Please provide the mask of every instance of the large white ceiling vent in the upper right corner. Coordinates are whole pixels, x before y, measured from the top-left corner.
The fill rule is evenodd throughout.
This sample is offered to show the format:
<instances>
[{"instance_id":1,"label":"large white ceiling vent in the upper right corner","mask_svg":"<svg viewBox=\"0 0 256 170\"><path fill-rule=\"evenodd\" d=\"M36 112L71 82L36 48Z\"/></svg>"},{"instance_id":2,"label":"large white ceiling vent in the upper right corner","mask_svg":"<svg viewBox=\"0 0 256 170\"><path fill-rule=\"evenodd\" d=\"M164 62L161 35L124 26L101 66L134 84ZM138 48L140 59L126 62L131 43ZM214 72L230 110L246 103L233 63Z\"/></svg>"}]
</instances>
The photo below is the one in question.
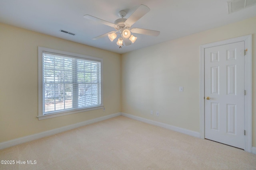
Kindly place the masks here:
<instances>
[{"instance_id":1,"label":"large white ceiling vent in the upper right corner","mask_svg":"<svg viewBox=\"0 0 256 170\"><path fill-rule=\"evenodd\" d=\"M232 0L228 2L228 14L256 5L256 0Z\"/></svg>"}]
</instances>

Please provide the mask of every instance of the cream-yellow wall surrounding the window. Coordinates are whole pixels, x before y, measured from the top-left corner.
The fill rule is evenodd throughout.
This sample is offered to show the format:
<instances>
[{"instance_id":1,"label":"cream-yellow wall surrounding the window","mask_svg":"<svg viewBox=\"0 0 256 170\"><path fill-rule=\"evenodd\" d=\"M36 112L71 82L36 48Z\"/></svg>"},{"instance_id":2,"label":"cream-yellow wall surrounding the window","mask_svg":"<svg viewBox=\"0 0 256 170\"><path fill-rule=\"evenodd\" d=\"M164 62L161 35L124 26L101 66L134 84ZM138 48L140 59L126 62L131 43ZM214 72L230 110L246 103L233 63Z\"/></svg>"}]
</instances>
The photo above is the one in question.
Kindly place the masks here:
<instances>
[{"instance_id":1,"label":"cream-yellow wall surrounding the window","mask_svg":"<svg viewBox=\"0 0 256 170\"><path fill-rule=\"evenodd\" d=\"M2 23L0 30L0 143L121 111L120 54ZM38 46L103 58L106 111L38 121Z\"/></svg>"}]
</instances>

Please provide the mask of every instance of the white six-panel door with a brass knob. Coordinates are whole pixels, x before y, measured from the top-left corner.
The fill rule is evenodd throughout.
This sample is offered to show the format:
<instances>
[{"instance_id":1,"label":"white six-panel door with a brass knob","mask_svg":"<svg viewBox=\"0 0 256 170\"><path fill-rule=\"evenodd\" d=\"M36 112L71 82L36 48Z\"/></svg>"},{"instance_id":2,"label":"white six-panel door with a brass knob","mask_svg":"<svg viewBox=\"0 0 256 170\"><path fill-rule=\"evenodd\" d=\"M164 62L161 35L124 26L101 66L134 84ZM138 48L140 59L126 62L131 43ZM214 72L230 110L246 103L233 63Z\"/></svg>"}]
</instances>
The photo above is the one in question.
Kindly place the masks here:
<instances>
[{"instance_id":1,"label":"white six-panel door with a brass knob","mask_svg":"<svg viewBox=\"0 0 256 170\"><path fill-rule=\"evenodd\" d=\"M244 149L244 41L204 52L205 138Z\"/></svg>"}]
</instances>

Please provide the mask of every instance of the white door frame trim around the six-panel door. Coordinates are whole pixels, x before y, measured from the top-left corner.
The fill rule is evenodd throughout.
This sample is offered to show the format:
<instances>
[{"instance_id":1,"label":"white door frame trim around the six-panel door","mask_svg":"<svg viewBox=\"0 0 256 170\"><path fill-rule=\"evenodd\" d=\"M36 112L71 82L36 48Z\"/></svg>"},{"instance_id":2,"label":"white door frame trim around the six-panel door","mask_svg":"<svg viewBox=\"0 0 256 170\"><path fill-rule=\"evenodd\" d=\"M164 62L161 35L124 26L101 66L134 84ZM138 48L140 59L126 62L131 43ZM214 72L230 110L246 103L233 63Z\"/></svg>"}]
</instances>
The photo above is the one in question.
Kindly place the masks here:
<instances>
[{"instance_id":1,"label":"white door frame trim around the six-panel door","mask_svg":"<svg viewBox=\"0 0 256 170\"><path fill-rule=\"evenodd\" d=\"M214 43L200 45L200 138L204 138L204 49L236 43L244 41L244 49L247 49L244 65L244 88L246 90L245 98L245 117L244 128L246 135L244 135L244 150L252 153L252 35L245 35L241 37L226 39Z\"/></svg>"}]
</instances>

